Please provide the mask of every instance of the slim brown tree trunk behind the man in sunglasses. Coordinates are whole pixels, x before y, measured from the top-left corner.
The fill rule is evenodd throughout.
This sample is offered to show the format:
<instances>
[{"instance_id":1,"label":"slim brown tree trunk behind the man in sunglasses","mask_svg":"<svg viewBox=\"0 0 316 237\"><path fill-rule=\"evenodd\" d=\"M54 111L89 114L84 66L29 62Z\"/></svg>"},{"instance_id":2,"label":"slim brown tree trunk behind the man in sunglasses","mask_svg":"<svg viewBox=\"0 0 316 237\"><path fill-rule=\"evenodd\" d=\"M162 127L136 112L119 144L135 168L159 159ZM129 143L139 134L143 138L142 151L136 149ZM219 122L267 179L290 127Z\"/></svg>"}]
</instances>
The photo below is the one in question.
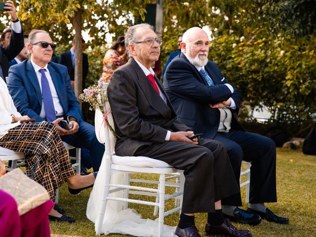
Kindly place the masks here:
<instances>
[{"instance_id":1,"label":"slim brown tree trunk behind the man in sunglasses","mask_svg":"<svg viewBox=\"0 0 316 237\"><path fill-rule=\"evenodd\" d=\"M81 27L82 18L81 10L75 13L75 95L79 101L81 108L81 100L79 94L82 93L82 48L81 48Z\"/></svg>"}]
</instances>

